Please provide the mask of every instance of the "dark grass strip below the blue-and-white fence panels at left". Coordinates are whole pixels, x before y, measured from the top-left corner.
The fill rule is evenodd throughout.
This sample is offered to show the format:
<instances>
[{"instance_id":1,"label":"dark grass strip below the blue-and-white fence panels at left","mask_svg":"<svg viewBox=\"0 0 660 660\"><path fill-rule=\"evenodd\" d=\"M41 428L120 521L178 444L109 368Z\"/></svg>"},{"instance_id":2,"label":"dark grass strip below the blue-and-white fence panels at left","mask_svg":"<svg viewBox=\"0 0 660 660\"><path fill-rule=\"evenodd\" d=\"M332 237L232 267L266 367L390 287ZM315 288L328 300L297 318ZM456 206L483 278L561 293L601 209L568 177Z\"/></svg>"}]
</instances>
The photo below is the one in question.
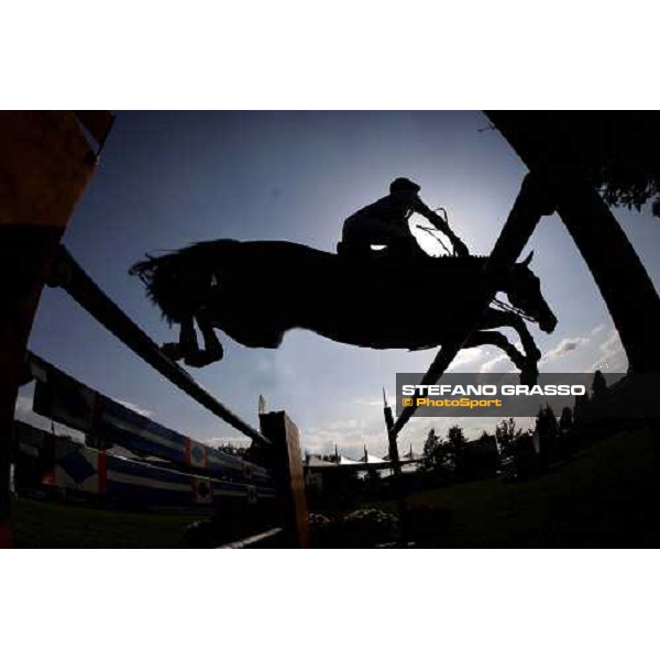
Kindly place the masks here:
<instances>
[{"instance_id":1,"label":"dark grass strip below the blue-and-white fence panels at left","mask_svg":"<svg viewBox=\"0 0 660 660\"><path fill-rule=\"evenodd\" d=\"M187 548L184 531L202 515L127 513L18 498L19 548Z\"/></svg>"}]
</instances>

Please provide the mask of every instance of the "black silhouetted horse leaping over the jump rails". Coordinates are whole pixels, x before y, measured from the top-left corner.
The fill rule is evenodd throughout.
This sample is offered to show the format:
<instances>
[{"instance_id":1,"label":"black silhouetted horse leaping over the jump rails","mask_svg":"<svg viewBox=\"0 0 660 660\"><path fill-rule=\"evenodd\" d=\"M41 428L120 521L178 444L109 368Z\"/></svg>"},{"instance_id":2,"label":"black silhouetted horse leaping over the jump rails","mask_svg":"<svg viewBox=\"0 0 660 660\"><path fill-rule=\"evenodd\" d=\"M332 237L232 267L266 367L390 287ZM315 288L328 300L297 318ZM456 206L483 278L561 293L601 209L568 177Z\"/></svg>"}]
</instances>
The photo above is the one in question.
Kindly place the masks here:
<instances>
[{"instance_id":1,"label":"black silhouetted horse leaping over the jump rails","mask_svg":"<svg viewBox=\"0 0 660 660\"><path fill-rule=\"evenodd\" d=\"M490 284L541 330L552 332L557 318L528 267L530 260L531 254L495 273ZM130 273L145 283L165 319L180 324L179 342L165 344L167 354L205 366L222 358L213 328L252 348L277 348L293 328L372 349L437 346L452 337L465 315L474 315L486 286L485 261L395 258L377 252L356 258L284 241L219 240L147 256ZM518 331L524 353L492 330L503 326ZM526 381L536 380L540 352L515 310L485 311L465 348L483 344L501 348Z\"/></svg>"}]
</instances>

